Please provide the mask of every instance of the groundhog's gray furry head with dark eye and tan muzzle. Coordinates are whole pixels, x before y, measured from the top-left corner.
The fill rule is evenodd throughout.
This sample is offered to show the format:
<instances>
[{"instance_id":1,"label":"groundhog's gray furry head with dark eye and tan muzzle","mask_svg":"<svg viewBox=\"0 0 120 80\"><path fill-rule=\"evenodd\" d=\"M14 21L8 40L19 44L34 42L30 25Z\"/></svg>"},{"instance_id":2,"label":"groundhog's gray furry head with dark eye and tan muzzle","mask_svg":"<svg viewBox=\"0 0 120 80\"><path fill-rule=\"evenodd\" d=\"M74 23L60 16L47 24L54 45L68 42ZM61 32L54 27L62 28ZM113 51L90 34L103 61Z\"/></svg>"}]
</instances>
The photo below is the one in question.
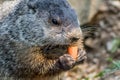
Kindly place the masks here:
<instances>
[{"instance_id":1,"label":"groundhog's gray furry head with dark eye and tan muzzle","mask_svg":"<svg viewBox=\"0 0 120 80\"><path fill-rule=\"evenodd\" d=\"M40 46L43 53L63 53L61 48L82 39L77 15L66 0L23 0L11 16L12 39Z\"/></svg>"}]
</instances>

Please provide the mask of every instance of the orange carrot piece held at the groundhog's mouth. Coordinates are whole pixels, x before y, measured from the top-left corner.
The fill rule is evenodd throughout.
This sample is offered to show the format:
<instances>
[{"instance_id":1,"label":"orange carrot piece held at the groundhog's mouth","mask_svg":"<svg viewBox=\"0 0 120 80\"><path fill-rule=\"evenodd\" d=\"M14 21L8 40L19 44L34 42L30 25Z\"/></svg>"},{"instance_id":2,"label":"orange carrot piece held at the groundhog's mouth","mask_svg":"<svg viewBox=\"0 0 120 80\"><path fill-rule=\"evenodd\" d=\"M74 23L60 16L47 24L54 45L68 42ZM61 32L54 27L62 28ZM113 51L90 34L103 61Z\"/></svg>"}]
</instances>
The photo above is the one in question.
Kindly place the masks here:
<instances>
[{"instance_id":1,"label":"orange carrot piece held at the groundhog's mouth","mask_svg":"<svg viewBox=\"0 0 120 80\"><path fill-rule=\"evenodd\" d=\"M69 46L68 47L68 54L73 57L73 59L77 59L78 47L77 46Z\"/></svg>"}]
</instances>

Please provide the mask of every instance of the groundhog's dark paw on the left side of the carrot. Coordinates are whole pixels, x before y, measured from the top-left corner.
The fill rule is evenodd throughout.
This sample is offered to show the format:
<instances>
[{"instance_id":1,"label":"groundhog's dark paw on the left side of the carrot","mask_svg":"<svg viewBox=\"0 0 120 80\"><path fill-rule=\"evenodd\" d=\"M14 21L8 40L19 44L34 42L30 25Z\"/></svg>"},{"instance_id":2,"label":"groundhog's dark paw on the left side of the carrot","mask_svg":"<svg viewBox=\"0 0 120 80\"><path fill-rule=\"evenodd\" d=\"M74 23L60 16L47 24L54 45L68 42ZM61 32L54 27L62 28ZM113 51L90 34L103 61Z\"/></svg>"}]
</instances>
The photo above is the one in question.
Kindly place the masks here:
<instances>
[{"instance_id":1,"label":"groundhog's dark paw on the left side of the carrot","mask_svg":"<svg viewBox=\"0 0 120 80\"><path fill-rule=\"evenodd\" d=\"M63 70L69 70L75 65L75 60L69 55L64 54L59 58L59 68Z\"/></svg>"}]
</instances>

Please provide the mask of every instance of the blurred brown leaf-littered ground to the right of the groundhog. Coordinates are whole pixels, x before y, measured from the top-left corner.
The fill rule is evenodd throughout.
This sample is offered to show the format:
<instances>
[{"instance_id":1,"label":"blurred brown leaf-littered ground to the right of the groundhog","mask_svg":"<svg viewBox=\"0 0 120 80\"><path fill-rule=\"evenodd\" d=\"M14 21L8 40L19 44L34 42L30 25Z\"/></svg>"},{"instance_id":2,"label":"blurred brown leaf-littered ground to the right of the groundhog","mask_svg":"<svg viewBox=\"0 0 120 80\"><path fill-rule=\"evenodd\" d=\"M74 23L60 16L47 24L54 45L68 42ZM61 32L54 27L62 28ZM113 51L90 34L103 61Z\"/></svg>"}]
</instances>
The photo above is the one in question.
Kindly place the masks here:
<instances>
[{"instance_id":1,"label":"blurred brown leaf-littered ground to the right of the groundhog","mask_svg":"<svg viewBox=\"0 0 120 80\"><path fill-rule=\"evenodd\" d=\"M84 40L87 62L65 73L61 80L120 80L120 71L95 77L111 64L109 59L120 59L120 46L111 52L113 41L120 40L120 1L106 0L84 26L95 27L93 34Z\"/></svg>"}]
</instances>

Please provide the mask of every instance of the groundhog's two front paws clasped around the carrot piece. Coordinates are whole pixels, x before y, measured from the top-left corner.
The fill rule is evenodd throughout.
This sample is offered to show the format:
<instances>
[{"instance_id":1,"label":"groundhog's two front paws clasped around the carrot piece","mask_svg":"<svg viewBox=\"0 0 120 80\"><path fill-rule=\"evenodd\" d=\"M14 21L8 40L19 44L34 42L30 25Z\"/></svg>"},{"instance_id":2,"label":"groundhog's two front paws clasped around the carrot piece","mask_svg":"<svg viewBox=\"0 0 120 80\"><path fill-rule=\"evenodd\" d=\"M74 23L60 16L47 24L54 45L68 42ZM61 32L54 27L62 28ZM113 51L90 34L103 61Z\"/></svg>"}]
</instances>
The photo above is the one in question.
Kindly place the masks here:
<instances>
[{"instance_id":1,"label":"groundhog's two front paws clasped around the carrot piece","mask_svg":"<svg viewBox=\"0 0 120 80\"><path fill-rule=\"evenodd\" d=\"M63 71L72 69L74 66L83 63L86 60L86 52L84 50L78 51L78 57L74 60L69 54L64 54L58 60L58 67Z\"/></svg>"}]
</instances>

